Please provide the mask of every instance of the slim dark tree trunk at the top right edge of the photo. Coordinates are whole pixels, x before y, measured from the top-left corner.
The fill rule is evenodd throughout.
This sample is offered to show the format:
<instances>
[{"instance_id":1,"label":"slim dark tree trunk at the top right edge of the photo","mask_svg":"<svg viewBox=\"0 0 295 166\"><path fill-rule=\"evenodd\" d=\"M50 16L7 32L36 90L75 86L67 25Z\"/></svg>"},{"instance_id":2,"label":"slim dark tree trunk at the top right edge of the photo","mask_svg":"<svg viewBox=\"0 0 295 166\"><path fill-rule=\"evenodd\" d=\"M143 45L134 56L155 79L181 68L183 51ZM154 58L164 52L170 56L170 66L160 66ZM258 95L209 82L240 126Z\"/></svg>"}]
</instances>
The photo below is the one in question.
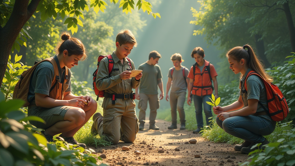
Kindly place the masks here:
<instances>
[{"instance_id":1,"label":"slim dark tree trunk at the top right edge of the photo","mask_svg":"<svg viewBox=\"0 0 295 166\"><path fill-rule=\"evenodd\" d=\"M295 27L294 27L294 23L292 19L292 14L289 8L289 2L287 1L286 3L284 3L283 7L286 14L287 23L288 23L292 51L295 52Z\"/></svg>"}]
</instances>

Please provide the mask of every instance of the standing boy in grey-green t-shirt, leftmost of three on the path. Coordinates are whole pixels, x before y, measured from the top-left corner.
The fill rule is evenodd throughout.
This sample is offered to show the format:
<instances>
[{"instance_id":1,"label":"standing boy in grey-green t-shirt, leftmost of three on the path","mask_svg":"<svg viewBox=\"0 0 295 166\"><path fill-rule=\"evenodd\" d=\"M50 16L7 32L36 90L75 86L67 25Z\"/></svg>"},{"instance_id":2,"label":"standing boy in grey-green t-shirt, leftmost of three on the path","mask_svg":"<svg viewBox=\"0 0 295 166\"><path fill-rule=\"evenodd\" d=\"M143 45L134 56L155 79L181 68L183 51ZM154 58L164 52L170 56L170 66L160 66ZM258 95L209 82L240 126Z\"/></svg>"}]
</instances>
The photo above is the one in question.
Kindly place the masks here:
<instances>
[{"instance_id":1,"label":"standing boy in grey-green t-shirt, leftmost of three on the path","mask_svg":"<svg viewBox=\"0 0 295 166\"><path fill-rule=\"evenodd\" d=\"M135 89L136 99L139 100L139 130L143 130L145 125L145 111L148 107L148 101L150 104L150 127L149 129L159 130L159 127L155 125L155 119L157 116L157 109L160 107L160 101L158 98L158 87L160 88L160 100L164 97L162 72L160 66L158 66L160 53L157 51L151 51L149 60L139 65L138 70L142 70L142 82ZM158 86L158 87L157 87Z\"/></svg>"}]
</instances>

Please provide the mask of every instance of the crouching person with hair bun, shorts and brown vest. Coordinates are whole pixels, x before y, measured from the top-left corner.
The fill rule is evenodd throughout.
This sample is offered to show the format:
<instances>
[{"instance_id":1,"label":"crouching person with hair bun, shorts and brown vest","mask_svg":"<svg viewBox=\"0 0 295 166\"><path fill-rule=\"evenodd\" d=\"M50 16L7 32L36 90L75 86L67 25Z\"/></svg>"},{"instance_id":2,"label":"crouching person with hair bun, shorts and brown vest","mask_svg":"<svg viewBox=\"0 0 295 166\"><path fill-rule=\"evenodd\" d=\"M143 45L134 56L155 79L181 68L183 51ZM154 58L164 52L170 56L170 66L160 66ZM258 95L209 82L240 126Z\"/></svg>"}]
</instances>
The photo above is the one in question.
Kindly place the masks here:
<instances>
[{"instance_id":1,"label":"crouching person with hair bun, shorts and brown vest","mask_svg":"<svg viewBox=\"0 0 295 166\"><path fill-rule=\"evenodd\" d=\"M78 144L74 134L96 112L97 103L90 96L75 96L71 93L71 68L78 61L87 58L86 50L77 38L68 32L61 35L61 41L55 48L57 55L44 59L32 68L32 77L27 100L29 116L38 116L46 123L30 121L37 128L44 129L41 133L47 141L60 134L65 141Z\"/></svg>"}]
</instances>

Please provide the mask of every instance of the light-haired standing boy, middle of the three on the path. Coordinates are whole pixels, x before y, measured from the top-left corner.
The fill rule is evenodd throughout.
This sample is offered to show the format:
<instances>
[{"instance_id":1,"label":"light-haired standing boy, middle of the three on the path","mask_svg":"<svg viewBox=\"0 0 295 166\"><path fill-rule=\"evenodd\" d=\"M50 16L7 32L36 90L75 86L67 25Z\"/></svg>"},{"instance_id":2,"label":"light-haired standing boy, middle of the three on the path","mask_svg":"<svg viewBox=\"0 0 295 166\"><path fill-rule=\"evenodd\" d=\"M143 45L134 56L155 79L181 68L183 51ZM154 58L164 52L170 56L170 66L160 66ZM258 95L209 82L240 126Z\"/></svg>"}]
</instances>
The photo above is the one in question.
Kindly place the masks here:
<instances>
[{"instance_id":1,"label":"light-haired standing boy, middle of the three on the path","mask_svg":"<svg viewBox=\"0 0 295 166\"><path fill-rule=\"evenodd\" d=\"M182 57L179 53L175 53L171 56L171 61L173 62L172 68L168 71L168 81L166 86L166 100L169 99L169 89L171 87L170 92L170 107L171 107L171 117L172 124L168 127L168 129L177 129L177 113L176 109L179 113L179 118L181 122L181 130L185 129L185 113L184 113L184 102L186 98L186 89L189 84L189 69L184 66L181 66L181 62L183 62ZM171 86L172 84L172 86Z\"/></svg>"}]
</instances>

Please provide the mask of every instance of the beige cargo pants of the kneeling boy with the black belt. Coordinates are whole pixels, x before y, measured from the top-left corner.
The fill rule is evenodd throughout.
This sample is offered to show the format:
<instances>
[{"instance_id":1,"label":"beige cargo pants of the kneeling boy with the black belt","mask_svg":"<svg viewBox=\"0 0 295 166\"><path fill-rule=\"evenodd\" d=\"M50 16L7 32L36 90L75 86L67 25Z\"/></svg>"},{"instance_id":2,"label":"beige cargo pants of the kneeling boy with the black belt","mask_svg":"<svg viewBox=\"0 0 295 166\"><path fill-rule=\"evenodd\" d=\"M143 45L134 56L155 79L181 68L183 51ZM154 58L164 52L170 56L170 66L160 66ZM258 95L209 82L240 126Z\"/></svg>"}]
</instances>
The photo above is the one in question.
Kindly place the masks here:
<instances>
[{"instance_id":1,"label":"beige cargo pants of the kneeling boy with the black belt","mask_svg":"<svg viewBox=\"0 0 295 166\"><path fill-rule=\"evenodd\" d=\"M94 121L99 136L113 144L118 144L119 140L134 142L138 133L134 100L116 99L112 104L112 98L105 97L101 107L104 111L102 121L99 123L99 118Z\"/></svg>"}]
</instances>

